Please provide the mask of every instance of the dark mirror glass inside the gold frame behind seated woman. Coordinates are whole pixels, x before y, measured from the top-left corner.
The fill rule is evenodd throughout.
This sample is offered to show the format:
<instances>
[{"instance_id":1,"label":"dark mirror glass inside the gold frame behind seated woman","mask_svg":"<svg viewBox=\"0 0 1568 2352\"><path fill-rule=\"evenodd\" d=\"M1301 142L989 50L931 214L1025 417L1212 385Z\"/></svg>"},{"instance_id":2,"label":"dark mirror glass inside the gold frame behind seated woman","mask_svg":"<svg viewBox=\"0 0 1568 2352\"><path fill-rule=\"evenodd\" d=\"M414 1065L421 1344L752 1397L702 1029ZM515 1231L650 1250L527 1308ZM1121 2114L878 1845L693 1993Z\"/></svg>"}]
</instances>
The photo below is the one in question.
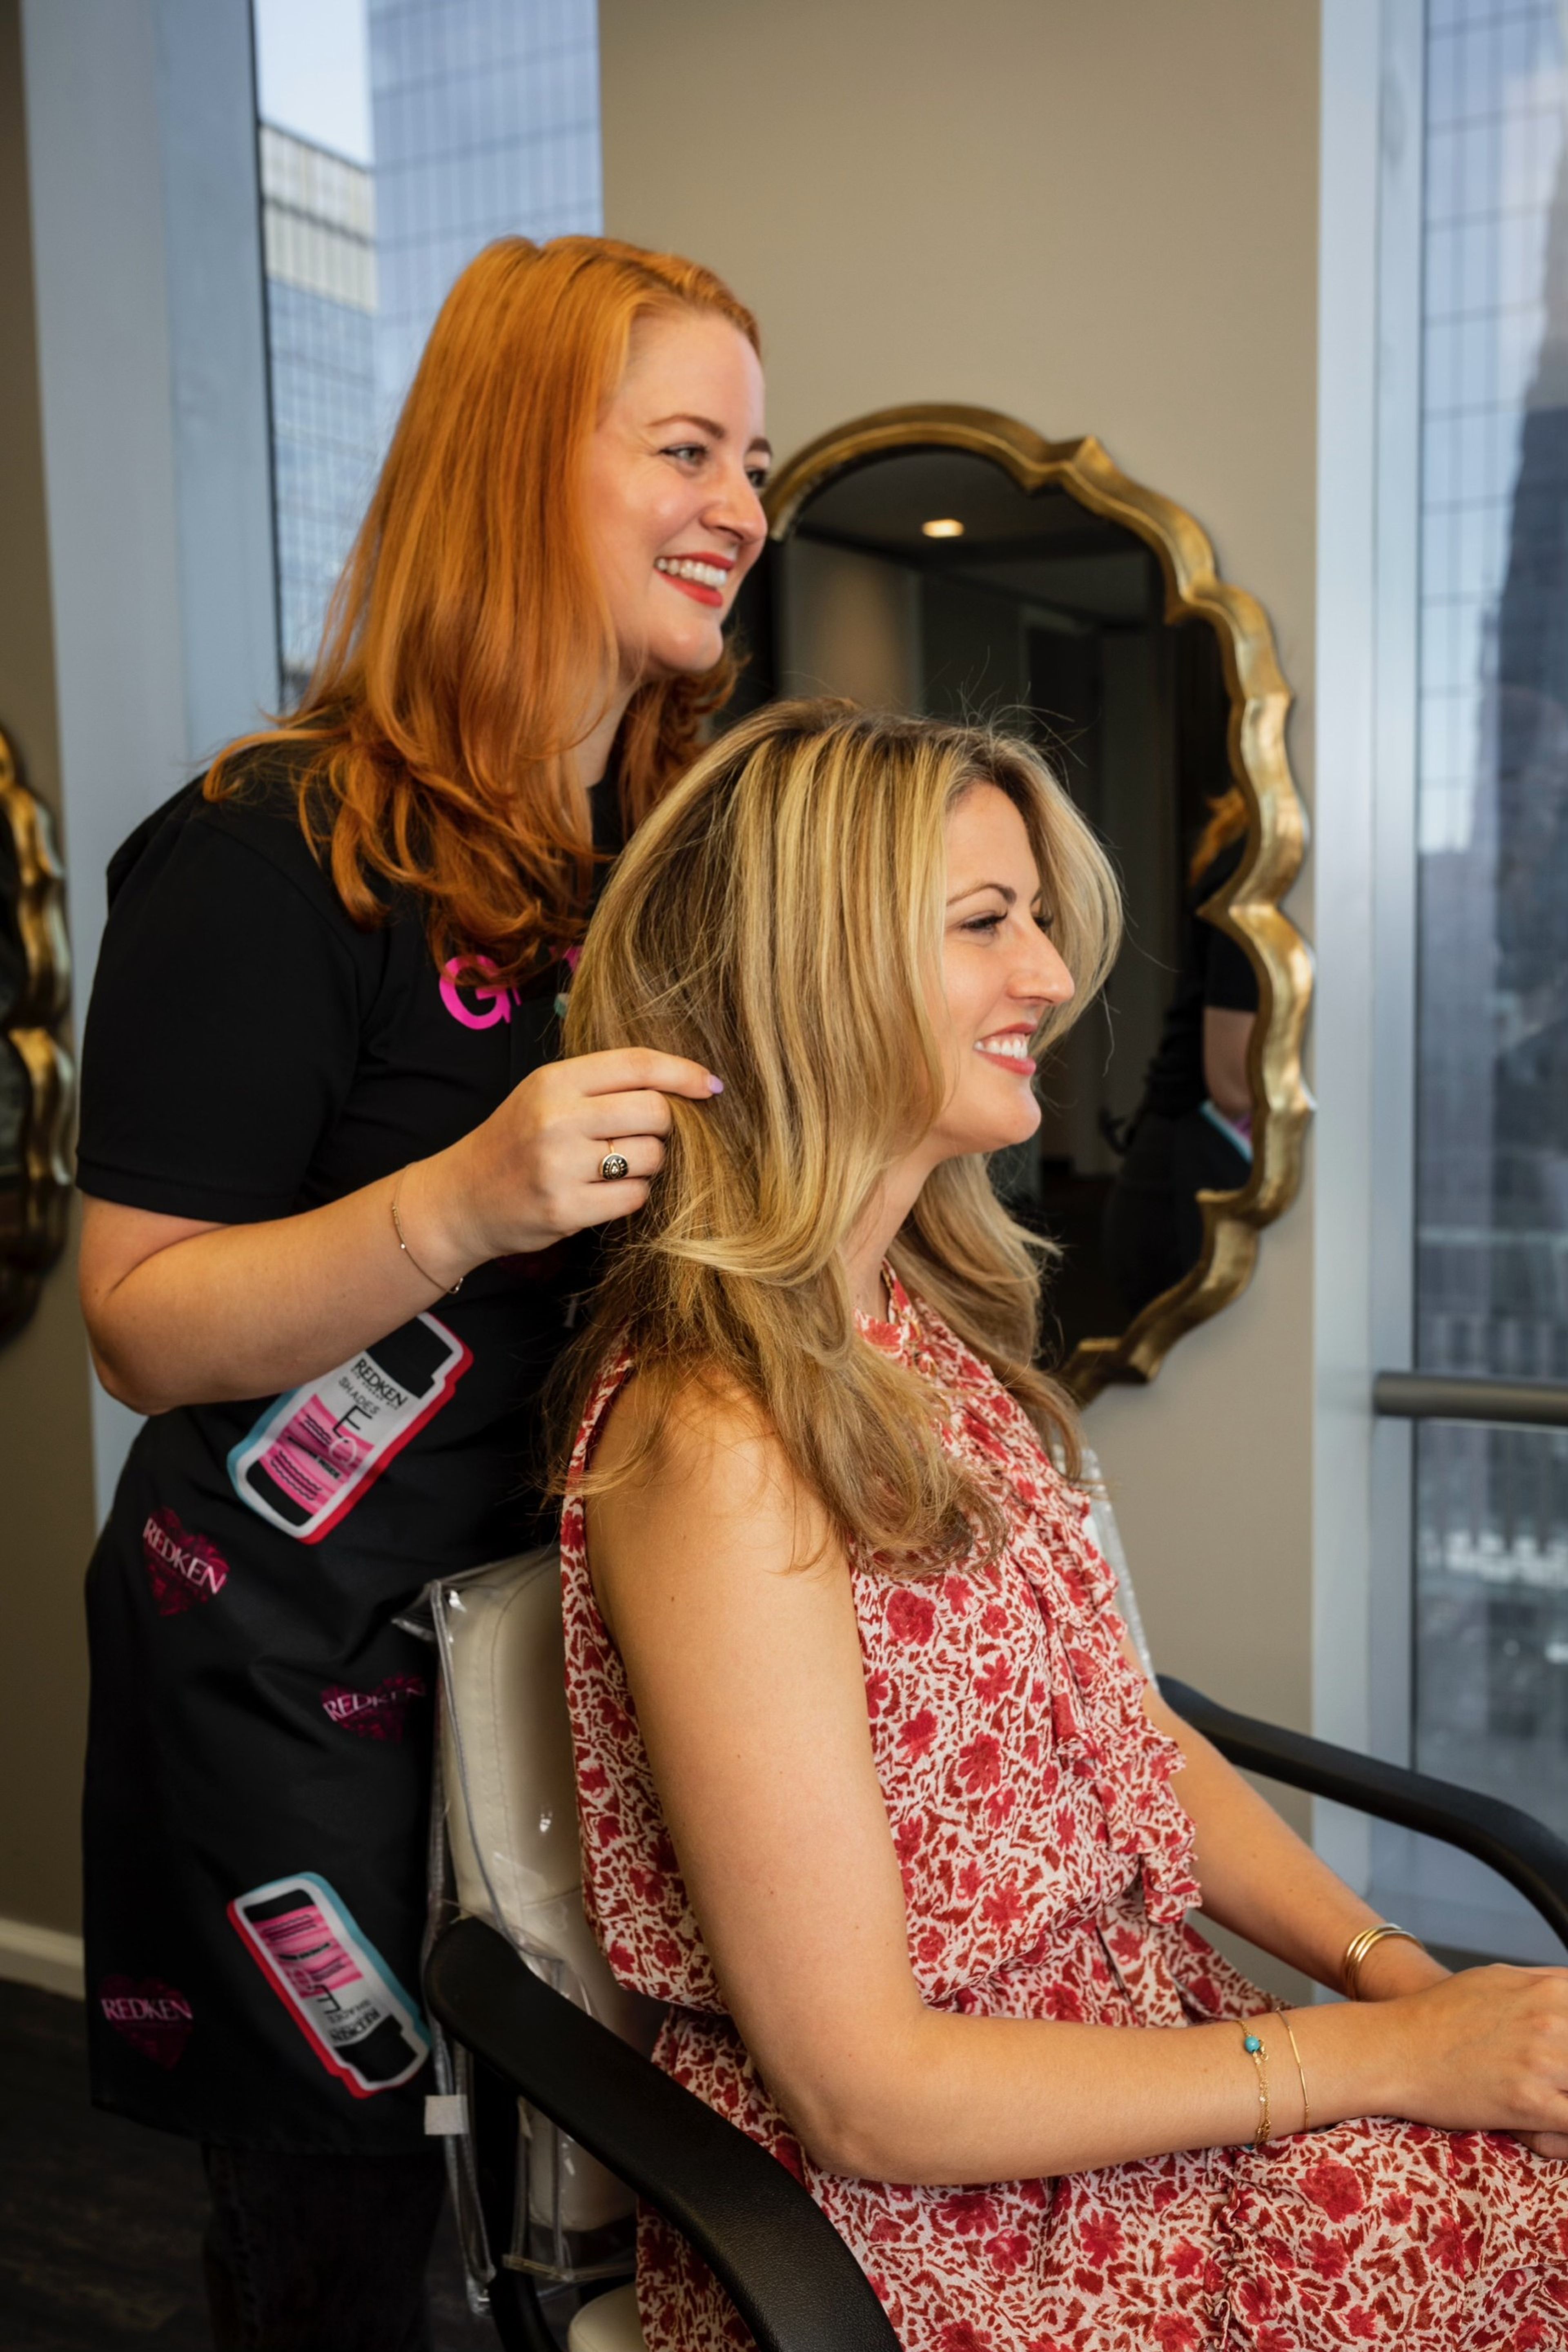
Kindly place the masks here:
<instances>
[{"instance_id":1,"label":"dark mirror glass inside the gold frame behind seated woman","mask_svg":"<svg viewBox=\"0 0 1568 2352\"><path fill-rule=\"evenodd\" d=\"M1016 1214L1063 1249L1048 1352L1067 1364L1199 1263L1199 1195L1251 1169L1258 981L1213 922L1246 849L1218 635L1166 621L1135 532L966 449L830 475L745 621L748 701L994 720L1048 753L1117 863L1110 988L1041 1068L1039 1136L997 1164Z\"/></svg>"}]
</instances>

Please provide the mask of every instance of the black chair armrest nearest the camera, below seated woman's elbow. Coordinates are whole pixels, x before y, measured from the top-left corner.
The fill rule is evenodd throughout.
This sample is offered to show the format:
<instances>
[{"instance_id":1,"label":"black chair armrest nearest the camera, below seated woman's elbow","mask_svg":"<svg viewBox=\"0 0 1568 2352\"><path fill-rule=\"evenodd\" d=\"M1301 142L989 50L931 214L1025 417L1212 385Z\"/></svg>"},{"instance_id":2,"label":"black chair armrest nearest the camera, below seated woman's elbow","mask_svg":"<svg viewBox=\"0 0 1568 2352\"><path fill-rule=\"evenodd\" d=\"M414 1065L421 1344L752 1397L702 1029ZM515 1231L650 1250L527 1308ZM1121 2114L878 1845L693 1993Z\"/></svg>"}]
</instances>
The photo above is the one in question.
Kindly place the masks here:
<instances>
[{"instance_id":1,"label":"black chair armrest nearest the camera, below seated woman's elbow","mask_svg":"<svg viewBox=\"0 0 1568 2352\"><path fill-rule=\"evenodd\" d=\"M658 2206L759 2352L898 2352L865 2272L799 2180L534 1976L482 1919L440 1936L425 1999L454 2042Z\"/></svg>"}]
</instances>

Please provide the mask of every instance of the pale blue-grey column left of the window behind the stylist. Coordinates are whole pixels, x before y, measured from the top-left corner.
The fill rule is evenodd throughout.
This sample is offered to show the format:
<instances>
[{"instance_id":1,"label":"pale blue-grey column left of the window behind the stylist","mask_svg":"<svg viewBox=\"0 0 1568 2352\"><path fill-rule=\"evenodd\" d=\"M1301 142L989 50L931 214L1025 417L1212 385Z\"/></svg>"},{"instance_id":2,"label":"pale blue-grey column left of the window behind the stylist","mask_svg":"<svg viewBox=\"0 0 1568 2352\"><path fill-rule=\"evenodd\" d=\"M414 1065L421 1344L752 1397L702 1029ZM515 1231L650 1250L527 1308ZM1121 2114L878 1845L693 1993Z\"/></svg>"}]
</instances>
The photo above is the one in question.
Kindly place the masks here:
<instances>
[{"instance_id":1,"label":"pale blue-grey column left of the window behind the stylist","mask_svg":"<svg viewBox=\"0 0 1568 2352\"><path fill-rule=\"evenodd\" d=\"M249 5L21 0L21 54L80 1033L110 854L277 694Z\"/></svg>"}]
</instances>

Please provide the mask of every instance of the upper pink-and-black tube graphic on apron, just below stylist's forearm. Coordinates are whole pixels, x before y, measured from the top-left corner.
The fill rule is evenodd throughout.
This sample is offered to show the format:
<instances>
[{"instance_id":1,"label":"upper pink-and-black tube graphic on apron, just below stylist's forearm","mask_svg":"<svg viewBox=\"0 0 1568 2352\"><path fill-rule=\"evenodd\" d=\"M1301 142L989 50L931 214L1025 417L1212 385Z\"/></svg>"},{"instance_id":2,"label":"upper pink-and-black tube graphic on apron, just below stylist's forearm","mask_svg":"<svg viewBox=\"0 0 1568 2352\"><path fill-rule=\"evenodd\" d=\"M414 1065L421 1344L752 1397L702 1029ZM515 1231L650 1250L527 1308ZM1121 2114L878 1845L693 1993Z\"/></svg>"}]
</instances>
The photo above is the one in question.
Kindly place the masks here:
<instances>
[{"instance_id":1,"label":"upper pink-and-black tube graphic on apron, just below stylist's forearm","mask_svg":"<svg viewBox=\"0 0 1568 2352\"><path fill-rule=\"evenodd\" d=\"M451 1399L473 1355L416 1315L336 1371L275 1397L228 1456L235 1494L299 1543L320 1543L409 1437Z\"/></svg>"}]
</instances>

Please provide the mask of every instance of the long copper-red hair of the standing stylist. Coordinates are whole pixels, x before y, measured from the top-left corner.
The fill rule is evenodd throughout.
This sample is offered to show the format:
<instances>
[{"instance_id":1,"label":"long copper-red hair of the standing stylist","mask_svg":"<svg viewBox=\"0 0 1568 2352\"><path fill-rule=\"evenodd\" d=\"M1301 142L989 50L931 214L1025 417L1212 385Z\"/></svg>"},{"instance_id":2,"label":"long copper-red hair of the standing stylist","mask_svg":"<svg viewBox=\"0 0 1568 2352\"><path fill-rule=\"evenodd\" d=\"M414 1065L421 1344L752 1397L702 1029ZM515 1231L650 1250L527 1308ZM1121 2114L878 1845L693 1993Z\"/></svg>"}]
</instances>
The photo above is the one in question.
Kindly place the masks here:
<instances>
[{"instance_id":1,"label":"long copper-red hair of the standing stylist","mask_svg":"<svg viewBox=\"0 0 1568 2352\"><path fill-rule=\"evenodd\" d=\"M616 644L581 459L635 322L679 310L762 348L752 313L696 261L614 238L487 245L430 332L299 710L207 776L219 800L244 788L237 753L306 750L301 826L343 906L369 927L411 891L437 960L480 950L512 978L583 931L592 844L569 753ZM618 736L630 823L731 687L726 654L637 689Z\"/></svg>"}]
</instances>

